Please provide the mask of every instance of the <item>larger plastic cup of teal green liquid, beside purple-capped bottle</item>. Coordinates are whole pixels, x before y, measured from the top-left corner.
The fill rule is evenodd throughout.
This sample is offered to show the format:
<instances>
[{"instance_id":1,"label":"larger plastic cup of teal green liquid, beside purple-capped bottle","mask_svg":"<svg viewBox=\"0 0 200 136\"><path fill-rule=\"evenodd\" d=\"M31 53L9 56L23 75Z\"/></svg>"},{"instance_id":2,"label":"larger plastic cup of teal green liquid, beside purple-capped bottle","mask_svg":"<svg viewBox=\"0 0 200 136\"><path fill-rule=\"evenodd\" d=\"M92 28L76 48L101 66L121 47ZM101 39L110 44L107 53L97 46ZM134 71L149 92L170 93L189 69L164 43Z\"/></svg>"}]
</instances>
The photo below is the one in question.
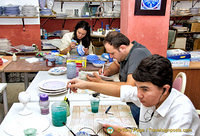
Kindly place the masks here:
<instances>
[{"instance_id":1,"label":"larger plastic cup of teal green liquid, beside purple-capped bottle","mask_svg":"<svg viewBox=\"0 0 200 136\"><path fill-rule=\"evenodd\" d=\"M52 124L56 127L64 126L67 121L67 105L56 102L51 105Z\"/></svg>"}]
</instances>

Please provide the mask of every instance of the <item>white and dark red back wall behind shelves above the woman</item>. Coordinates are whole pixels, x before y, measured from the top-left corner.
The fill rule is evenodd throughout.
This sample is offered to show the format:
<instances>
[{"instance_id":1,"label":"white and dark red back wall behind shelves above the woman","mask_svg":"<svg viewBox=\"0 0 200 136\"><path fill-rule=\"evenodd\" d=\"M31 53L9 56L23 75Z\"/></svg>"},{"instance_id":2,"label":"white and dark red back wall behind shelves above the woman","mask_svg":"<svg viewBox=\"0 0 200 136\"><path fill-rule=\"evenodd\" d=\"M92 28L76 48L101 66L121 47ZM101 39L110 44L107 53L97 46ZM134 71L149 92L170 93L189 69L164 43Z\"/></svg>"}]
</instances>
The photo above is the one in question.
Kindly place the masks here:
<instances>
[{"instance_id":1,"label":"white and dark red back wall behind shelves above the woman","mask_svg":"<svg viewBox=\"0 0 200 136\"><path fill-rule=\"evenodd\" d=\"M100 5L100 2L92 2L90 3L92 5ZM85 2L64 2L63 9L61 11L61 2L54 2L53 11L55 11L57 14L69 14L69 10L72 11L72 16L74 15L74 9L79 10L79 16L82 15L83 7L85 5ZM104 2L104 12L112 11L112 2ZM120 3L114 4L114 11L120 12ZM77 22L79 22L82 19L67 19L65 24L63 19L49 19L47 21L47 18L41 18L41 28L44 28L47 30L47 32L53 32L57 30L70 30L73 31L75 25ZM120 27L120 19L84 19L87 21L90 26L92 26L92 30L97 30L101 27L101 22L103 22L104 28L106 24L110 24L110 28L119 28ZM64 28L63 28L64 24ZM94 25L94 26L93 26ZM53 26L53 27L52 27Z\"/></svg>"}]
</instances>

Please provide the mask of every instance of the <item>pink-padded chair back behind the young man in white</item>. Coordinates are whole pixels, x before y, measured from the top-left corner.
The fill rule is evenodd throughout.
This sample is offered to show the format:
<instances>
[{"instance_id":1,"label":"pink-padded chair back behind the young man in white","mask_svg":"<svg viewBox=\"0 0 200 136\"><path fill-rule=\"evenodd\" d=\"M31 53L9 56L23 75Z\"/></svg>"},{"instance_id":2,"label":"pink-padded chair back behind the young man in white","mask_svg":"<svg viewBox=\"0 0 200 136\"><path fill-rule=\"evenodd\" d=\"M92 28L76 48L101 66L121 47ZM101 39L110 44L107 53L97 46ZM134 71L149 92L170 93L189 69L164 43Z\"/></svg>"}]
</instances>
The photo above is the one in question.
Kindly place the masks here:
<instances>
[{"instance_id":1,"label":"pink-padded chair back behind the young man in white","mask_svg":"<svg viewBox=\"0 0 200 136\"><path fill-rule=\"evenodd\" d=\"M172 87L184 93L186 87L186 80L186 74L184 72L179 72L176 78L174 79Z\"/></svg>"}]
</instances>

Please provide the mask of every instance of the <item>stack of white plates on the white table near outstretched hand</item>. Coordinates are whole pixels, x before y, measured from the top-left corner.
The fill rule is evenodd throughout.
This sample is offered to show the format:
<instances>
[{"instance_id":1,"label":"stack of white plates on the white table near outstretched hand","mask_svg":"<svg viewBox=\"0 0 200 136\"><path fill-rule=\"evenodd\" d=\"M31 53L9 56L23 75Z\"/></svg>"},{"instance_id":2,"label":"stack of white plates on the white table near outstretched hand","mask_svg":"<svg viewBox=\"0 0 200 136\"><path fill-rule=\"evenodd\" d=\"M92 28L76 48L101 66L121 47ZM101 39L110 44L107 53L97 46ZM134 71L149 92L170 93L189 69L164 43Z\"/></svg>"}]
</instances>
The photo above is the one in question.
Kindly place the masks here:
<instances>
[{"instance_id":1,"label":"stack of white plates on the white table near outstretched hand","mask_svg":"<svg viewBox=\"0 0 200 136\"><path fill-rule=\"evenodd\" d=\"M49 79L40 82L39 90L48 95L59 95L67 92L67 82L59 79Z\"/></svg>"}]
</instances>

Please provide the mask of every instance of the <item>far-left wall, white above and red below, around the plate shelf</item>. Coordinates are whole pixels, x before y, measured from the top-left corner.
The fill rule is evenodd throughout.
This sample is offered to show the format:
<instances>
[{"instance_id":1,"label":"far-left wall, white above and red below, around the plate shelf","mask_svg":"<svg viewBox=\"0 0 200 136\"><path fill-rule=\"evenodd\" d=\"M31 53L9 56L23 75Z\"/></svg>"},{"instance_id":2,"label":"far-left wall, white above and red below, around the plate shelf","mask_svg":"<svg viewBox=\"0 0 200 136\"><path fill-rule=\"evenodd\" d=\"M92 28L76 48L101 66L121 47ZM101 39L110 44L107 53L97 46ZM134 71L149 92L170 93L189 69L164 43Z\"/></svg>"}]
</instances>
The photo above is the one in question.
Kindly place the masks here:
<instances>
[{"instance_id":1,"label":"far-left wall, white above and red below, around the plate shelf","mask_svg":"<svg viewBox=\"0 0 200 136\"><path fill-rule=\"evenodd\" d=\"M39 6L38 0L1 0L0 6L8 5L34 5ZM39 8L38 8L39 11ZM33 43L40 48L40 18L25 18L25 31L23 31L21 18L0 18L0 38L7 38L13 46Z\"/></svg>"}]
</instances>

